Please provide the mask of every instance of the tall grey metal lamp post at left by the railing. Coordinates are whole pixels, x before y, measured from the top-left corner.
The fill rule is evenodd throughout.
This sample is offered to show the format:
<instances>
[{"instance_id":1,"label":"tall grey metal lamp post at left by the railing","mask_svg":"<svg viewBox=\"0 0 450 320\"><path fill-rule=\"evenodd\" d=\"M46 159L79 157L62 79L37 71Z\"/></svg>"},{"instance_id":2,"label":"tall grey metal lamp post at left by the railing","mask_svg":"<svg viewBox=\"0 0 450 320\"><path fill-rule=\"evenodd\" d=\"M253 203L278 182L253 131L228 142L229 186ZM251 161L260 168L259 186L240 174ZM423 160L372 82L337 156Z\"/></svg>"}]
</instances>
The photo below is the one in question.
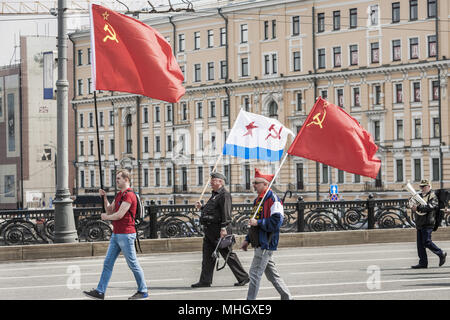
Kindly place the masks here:
<instances>
[{"instance_id":1,"label":"tall grey metal lamp post at left by the railing","mask_svg":"<svg viewBox=\"0 0 450 320\"><path fill-rule=\"evenodd\" d=\"M58 0L58 80L57 88L57 175L55 205L55 243L77 242L68 165L68 88L67 81L67 0Z\"/></svg>"}]
</instances>

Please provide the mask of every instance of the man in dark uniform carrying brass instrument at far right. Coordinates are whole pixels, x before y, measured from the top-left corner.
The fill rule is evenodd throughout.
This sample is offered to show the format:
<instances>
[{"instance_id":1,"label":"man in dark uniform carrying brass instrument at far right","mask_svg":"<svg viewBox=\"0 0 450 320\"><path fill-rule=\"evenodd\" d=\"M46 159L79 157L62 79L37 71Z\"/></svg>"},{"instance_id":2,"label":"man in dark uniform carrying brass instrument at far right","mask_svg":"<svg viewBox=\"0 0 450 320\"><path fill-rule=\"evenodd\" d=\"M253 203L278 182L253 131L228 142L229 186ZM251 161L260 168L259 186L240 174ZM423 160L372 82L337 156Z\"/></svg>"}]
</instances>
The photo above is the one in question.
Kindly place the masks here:
<instances>
[{"instance_id":1,"label":"man in dark uniform carrying brass instrument at far right","mask_svg":"<svg viewBox=\"0 0 450 320\"><path fill-rule=\"evenodd\" d=\"M413 269L422 269L428 267L428 257L425 248L428 248L439 257L439 267L445 263L447 252L439 249L431 241L431 232L435 225L435 210L438 208L438 198L434 192L431 192L431 184L428 180L420 181L421 192L419 195L427 203L419 204L416 199L410 199L410 208L414 213L414 219L417 229L417 253L419 255L419 264L411 266Z\"/></svg>"}]
</instances>

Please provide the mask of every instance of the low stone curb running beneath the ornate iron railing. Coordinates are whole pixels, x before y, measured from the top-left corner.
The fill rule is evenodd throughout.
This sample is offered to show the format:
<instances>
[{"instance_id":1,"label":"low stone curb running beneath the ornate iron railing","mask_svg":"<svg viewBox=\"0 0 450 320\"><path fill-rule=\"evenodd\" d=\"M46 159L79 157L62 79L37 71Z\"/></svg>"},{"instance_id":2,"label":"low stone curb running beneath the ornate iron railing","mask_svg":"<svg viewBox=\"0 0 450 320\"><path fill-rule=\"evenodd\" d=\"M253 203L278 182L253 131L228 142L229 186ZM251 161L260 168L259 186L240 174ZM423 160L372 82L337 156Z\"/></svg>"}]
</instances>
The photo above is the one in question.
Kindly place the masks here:
<instances>
[{"instance_id":1,"label":"low stone curb running beneath the ornate iron railing","mask_svg":"<svg viewBox=\"0 0 450 320\"><path fill-rule=\"evenodd\" d=\"M450 229L439 228L433 233L433 241L450 240ZM236 236L235 248L239 248L245 236ZM192 252L202 250L201 237L140 240L142 253ZM355 245L368 243L415 242L416 230L373 229L354 231L324 231L280 234L279 247L317 247ZM61 259L104 256L108 241L39 244L0 247L0 261L26 261L40 259Z\"/></svg>"}]
</instances>

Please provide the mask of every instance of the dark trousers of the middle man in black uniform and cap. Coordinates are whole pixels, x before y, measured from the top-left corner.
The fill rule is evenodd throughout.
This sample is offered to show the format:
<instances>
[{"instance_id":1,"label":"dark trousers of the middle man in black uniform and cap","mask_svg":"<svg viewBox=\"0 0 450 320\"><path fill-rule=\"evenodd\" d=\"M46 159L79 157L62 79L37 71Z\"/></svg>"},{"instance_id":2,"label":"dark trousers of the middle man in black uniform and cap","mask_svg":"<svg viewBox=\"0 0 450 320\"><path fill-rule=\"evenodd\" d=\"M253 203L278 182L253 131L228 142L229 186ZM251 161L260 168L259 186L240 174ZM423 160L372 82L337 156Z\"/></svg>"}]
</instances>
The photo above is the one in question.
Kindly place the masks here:
<instances>
[{"instance_id":1,"label":"dark trousers of the middle man in black uniform and cap","mask_svg":"<svg viewBox=\"0 0 450 320\"><path fill-rule=\"evenodd\" d=\"M217 238L219 240L219 238ZM203 238L203 260L202 260L202 273L200 275L200 282L212 283L214 274L214 268L216 266L216 259L212 257L214 250L216 249L217 242L212 242L208 237ZM230 249L219 249L220 254L225 259ZM248 273L242 267L241 262L236 253L231 252L230 257L227 260L227 265L230 267L236 279L241 282L248 279Z\"/></svg>"}]
</instances>

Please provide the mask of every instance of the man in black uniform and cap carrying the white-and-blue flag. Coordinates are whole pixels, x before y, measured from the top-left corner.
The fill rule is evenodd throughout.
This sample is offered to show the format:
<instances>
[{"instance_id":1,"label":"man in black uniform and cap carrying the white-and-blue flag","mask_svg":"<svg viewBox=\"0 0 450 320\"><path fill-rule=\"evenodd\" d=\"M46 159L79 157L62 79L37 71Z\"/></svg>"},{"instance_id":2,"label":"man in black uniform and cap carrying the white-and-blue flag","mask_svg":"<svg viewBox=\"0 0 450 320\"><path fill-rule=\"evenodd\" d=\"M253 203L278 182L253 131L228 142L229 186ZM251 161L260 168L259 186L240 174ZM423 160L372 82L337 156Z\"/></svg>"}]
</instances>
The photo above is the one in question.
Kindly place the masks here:
<instances>
[{"instance_id":1,"label":"man in black uniform and cap carrying the white-and-blue flag","mask_svg":"<svg viewBox=\"0 0 450 320\"><path fill-rule=\"evenodd\" d=\"M231 194L225 189L225 176L218 172L211 173L212 195L208 202L202 206L197 201L197 209L201 209L200 223L204 226L203 260L200 281L194 283L192 288L210 287L212 283L216 259L212 257L220 238L231 234ZM226 258L231 248L219 249L222 257ZM236 277L235 286L243 286L249 282L248 273L242 267L236 253L231 252L227 264Z\"/></svg>"}]
</instances>

